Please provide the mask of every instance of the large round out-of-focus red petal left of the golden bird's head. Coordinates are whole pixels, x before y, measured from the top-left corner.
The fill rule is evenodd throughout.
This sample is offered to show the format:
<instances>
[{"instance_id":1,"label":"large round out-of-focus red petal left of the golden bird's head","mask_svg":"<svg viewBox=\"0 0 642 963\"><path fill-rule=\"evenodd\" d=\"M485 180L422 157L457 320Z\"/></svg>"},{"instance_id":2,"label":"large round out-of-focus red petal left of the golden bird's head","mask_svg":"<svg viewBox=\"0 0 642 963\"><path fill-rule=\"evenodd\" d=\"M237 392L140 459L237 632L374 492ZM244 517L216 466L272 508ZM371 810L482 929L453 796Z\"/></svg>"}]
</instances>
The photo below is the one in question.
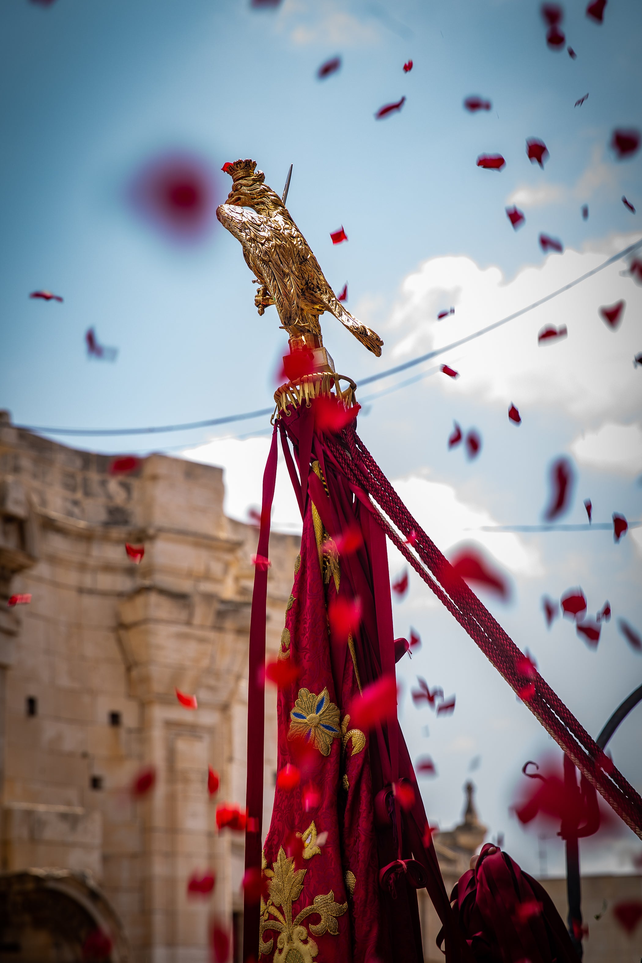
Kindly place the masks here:
<instances>
[{"instance_id":1,"label":"large round out-of-focus red petal left of the golden bird's head","mask_svg":"<svg viewBox=\"0 0 642 963\"><path fill-rule=\"evenodd\" d=\"M174 239L202 237L213 222L212 172L187 154L167 154L144 165L130 195L141 214Z\"/></svg>"}]
</instances>

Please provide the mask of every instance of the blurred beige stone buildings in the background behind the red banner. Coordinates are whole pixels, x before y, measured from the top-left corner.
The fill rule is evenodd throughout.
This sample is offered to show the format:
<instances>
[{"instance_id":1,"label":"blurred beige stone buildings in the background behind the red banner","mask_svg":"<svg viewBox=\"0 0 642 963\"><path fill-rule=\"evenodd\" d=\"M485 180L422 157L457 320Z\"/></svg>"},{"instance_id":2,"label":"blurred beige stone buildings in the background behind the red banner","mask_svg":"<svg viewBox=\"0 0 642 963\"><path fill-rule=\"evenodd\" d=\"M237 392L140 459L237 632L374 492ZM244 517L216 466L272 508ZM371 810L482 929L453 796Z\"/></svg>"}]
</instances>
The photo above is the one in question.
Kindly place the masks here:
<instances>
[{"instance_id":1,"label":"blurred beige stone buildings in the background behind the red banner","mask_svg":"<svg viewBox=\"0 0 642 963\"><path fill-rule=\"evenodd\" d=\"M257 531L223 514L219 468L163 455L127 474L111 464L0 412L0 963L207 963L213 920L237 937L241 927L244 838L219 833L215 813L244 806ZM126 542L144 545L140 565ZM273 655L298 543L270 537ZM18 593L31 603L9 608ZM275 726L269 687L266 827ZM212 799L209 766L220 775ZM155 785L136 798L148 767ZM486 832L465 792L463 820L434 836L449 891ZM210 869L214 894L189 899L190 875ZM543 882L565 916L564 881ZM583 886L586 914L602 895L642 898L639 876ZM419 897L425 959L441 960L439 922ZM637 963L640 940L609 913L589 923L585 963Z\"/></svg>"}]
</instances>

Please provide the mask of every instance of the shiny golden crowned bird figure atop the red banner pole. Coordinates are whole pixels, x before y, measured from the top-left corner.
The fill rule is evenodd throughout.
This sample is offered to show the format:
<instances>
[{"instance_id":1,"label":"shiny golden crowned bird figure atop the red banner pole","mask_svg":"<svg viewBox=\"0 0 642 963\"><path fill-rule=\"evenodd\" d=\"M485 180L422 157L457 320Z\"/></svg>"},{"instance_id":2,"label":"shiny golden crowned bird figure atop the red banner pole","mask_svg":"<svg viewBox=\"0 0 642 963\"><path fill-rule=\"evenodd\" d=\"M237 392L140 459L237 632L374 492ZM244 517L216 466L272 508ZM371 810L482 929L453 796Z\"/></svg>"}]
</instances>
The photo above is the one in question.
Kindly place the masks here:
<instances>
[{"instance_id":1,"label":"shiny golden crowned bird figure atop the red banner pole","mask_svg":"<svg viewBox=\"0 0 642 963\"><path fill-rule=\"evenodd\" d=\"M319 316L329 311L378 357L383 341L336 299L285 204L264 183L263 171L256 170L256 161L235 161L223 170L233 184L217 217L241 242L245 263L259 285L254 299L259 314L274 304L290 338L307 334L321 339Z\"/></svg>"}]
</instances>

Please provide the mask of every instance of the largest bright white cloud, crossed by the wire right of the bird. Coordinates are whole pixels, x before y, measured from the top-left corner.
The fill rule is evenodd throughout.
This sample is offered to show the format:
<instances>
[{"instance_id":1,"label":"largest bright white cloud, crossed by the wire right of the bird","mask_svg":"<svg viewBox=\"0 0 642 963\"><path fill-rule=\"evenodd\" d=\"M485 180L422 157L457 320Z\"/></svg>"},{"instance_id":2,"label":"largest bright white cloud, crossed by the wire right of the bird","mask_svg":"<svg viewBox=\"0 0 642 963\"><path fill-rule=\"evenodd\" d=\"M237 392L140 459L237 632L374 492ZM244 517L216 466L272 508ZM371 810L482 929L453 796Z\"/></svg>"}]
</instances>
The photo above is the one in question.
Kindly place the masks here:
<instances>
[{"instance_id":1,"label":"largest bright white cloud, crossed by the wire right of the bird","mask_svg":"<svg viewBox=\"0 0 642 963\"><path fill-rule=\"evenodd\" d=\"M403 281L387 325L393 338L398 335L393 356L403 360L466 337L598 267L609 254L637 239L613 237L597 249L581 252L567 248L561 255L549 255L538 267L522 269L509 281L499 268L481 269L468 257L424 261ZM474 395L478 401L514 402L520 410L521 405L542 403L581 417L585 424L592 418L600 424L604 418L634 417L642 388L632 364L639 351L636 318L642 311L642 288L621 275L624 267L621 262L611 265L523 317L457 348L461 377L444 383L444 391ZM604 324L599 308L620 298L627 307L622 325L613 331ZM450 305L455 314L438 322L438 310ZM538 346L537 334L545 325L567 325L568 337ZM439 360L448 363L453 357L444 354Z\"/></svg>"}]
</instances>

